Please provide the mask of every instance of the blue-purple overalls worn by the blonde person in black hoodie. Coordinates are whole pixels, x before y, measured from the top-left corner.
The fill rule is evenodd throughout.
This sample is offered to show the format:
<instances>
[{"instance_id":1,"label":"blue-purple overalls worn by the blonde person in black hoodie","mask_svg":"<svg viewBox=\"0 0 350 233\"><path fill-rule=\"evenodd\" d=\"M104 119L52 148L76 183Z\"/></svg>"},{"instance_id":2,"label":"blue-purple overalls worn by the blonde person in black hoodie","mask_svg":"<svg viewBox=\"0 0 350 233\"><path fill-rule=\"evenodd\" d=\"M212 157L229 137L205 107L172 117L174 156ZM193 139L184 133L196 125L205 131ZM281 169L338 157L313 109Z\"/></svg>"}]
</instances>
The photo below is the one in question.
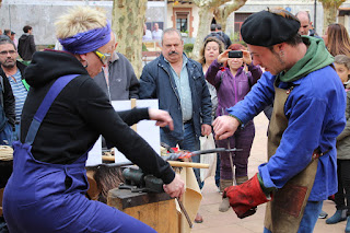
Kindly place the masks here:
<instances>
[{"instance_id":1,"label":"blue-purple overalls worn by the blonde person in black hoodie","mask_svg":"<svg viewBox=\"0 0 350 233\"><path fill-rule=\"evenodd\" d=\"M3 215L11 233L155 232L149 225L89 200L85 161L50 164L34 159L31 149L47 110L60 91L77 75L59 78L37 109L24 143L13 143L13 173L3 196ZM55 136L52 136L55 137Z\"/></svg>"}]
</instances>

